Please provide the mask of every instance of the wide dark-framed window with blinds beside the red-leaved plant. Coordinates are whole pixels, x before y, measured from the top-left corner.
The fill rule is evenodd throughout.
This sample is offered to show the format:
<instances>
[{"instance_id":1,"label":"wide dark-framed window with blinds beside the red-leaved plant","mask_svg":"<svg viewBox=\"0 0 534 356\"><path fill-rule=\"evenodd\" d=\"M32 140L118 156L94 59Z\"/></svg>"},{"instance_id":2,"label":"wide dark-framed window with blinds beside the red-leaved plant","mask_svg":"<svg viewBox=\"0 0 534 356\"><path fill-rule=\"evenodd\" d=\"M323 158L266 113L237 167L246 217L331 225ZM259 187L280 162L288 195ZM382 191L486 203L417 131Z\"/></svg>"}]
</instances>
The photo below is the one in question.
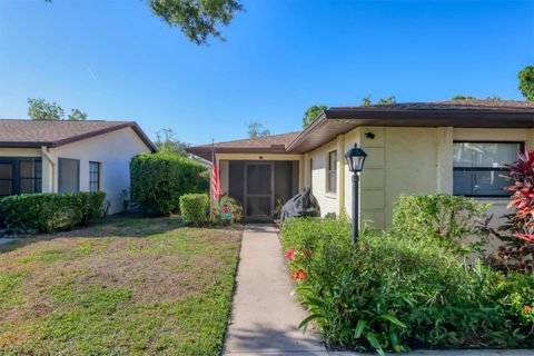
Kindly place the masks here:
<instances>
[{"instance_id":1,"label":"wide dark-framed window with blinds beside the red-leaved plant","mask_svg":"<svg viewBox=\"0 0 534 356\"><path fill-rule=\"evenodd\" d=\"M455 142L453 151L453 191L467 197L508 197L510 182L504 164L517 159L521 142Z\"/></svg>"}]
</instances>

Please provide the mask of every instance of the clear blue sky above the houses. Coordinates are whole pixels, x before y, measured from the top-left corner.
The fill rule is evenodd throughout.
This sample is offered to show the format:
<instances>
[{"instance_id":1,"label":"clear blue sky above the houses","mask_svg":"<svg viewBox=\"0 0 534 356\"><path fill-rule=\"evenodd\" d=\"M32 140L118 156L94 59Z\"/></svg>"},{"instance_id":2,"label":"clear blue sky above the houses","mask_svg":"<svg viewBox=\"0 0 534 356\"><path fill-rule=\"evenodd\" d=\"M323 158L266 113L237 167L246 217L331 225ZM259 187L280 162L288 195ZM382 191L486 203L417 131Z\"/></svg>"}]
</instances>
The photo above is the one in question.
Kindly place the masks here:
<instances>
[{"instance_id":1,"label":"clear blue sky above the houses","mask_svg":"<svg viewBox=\"0 0 534 356\"><path fill-rule=\"evenodd\" d=\"M44 98L202 144L260 121L297 130L312 105L521 99L534 0L246 0L226 42L198 47L140 0L0 0L0 117Z\"/></svg>"}]
</instances>

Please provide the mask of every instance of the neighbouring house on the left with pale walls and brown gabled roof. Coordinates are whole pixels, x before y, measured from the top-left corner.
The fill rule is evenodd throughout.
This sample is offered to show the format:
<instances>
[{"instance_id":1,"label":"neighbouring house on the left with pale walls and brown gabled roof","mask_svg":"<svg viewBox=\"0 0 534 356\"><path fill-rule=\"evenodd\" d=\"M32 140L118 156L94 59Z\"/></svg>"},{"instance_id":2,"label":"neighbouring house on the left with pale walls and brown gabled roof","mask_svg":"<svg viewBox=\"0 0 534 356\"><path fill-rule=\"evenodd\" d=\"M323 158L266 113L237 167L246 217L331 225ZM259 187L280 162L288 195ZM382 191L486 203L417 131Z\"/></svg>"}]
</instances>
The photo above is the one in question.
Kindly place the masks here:
<instances>
[{"instance_id":1,"label":"neighbouring house on the left with pale walls and brown gabled roof","mask_svg":"<svg viewBox=\"0 0 534 356\"><path fill-rule=\"evenodd\" d=\"M156 150L132 121L0 120L0 196L102 190L119 212L130 159Z\"/></svg>"}]
</instances>

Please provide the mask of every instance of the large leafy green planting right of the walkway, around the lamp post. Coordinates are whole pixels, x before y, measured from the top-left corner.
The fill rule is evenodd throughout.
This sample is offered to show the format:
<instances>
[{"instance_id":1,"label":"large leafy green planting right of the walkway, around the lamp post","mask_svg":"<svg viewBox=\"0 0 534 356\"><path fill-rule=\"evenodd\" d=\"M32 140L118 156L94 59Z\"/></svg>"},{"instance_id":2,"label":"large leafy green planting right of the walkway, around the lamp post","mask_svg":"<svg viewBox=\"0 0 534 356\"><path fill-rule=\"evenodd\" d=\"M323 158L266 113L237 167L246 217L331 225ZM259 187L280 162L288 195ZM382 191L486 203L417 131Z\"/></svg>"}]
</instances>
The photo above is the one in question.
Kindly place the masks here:
<instances>
[{"instance_id":1,"label":"large leafy green planting right of the walkway, around the lamp post","mask_svg":"<svg viewBox=\"0 0 534 356\"><path fill-rule=\"evenodd\" d=\"M346 220L288 219L281 235L310 313L303 325L315 319L332 346L534 346L525 317L532 279L517 283L481 264L469 269L449 249L393 230L363 231L355 246Z\"/></svg>"}]
</instances>

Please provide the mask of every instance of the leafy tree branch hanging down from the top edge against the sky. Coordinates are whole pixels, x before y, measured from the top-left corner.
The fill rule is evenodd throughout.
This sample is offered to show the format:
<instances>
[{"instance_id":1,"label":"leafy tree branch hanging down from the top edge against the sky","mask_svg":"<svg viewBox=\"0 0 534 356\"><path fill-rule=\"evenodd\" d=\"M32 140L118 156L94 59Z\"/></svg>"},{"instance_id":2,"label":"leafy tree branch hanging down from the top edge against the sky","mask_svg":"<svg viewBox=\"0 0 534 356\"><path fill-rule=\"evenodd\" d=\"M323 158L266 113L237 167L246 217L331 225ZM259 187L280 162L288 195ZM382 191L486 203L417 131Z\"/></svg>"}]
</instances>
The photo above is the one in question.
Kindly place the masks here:
<instances>
[{"instance_id":1,"label":"leafy tree branch hanging down from the top edge against the sky","mask_svg":"<svg viewBox=\"0 0 534 356\"><path fill-rule=\"evenodd\" d=\"M244 10L238 0L148 0L148 6L197 44L206 44L209 36L225 40L218 26L228 26Z\"/></svg>"}]
</instances>

